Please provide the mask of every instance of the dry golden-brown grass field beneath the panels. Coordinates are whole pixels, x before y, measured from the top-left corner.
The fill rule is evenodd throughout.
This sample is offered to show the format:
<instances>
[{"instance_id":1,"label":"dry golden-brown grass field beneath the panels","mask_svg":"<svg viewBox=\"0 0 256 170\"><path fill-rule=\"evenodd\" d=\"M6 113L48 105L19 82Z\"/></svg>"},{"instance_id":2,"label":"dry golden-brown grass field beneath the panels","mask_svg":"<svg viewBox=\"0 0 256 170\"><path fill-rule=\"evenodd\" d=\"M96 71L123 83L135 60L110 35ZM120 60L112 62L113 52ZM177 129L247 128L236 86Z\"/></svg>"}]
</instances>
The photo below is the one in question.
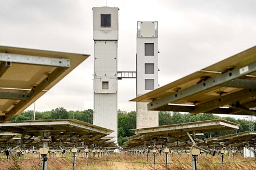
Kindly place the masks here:
<instances>
[{"instance_id":1,"label":"dry golden-brown grass field beneath the panels","mask_svg":"<svg viewBox=\"0 0 256 170\"><path fill-rule=\"evenodd\" d=\"M20 160L17 159L16 154L11 156L8 160L6 157L0 157L0 169L41 169L42 158L39 158L39 154L24 154L24 157ZM165 165L164 155L157 154L156 163L153 163L153 156L147 155L131 155L129 153L111 155L98 155L93 158L93 155L89 155L88 160L84 155L77 155L76 167L73 167L73 155L66 153L64 157L56 154L55 157L48 155L47 169L49 170L69 170L69 169L192 169L192 157L182 155L169 155L168 167ZM214 170L230 170L230 169L256 169L254 158L244 158L239 155L229 157L225 155L224 164L221 163L221 157L215 155L214 157L205 155L198 156L197 169L214 169Z\"/></svg>"}]
</instances>

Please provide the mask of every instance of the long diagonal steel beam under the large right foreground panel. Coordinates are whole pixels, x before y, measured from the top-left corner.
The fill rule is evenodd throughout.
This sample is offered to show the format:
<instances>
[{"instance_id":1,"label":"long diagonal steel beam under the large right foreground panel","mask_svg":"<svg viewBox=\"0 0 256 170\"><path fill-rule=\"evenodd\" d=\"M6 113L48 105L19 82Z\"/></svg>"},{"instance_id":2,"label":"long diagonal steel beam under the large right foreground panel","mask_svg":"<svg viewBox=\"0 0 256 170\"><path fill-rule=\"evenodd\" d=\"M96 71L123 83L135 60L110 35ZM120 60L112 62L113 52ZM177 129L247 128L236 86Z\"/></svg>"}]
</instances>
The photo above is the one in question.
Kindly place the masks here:
<instances>
[{"instance_id":1,"label":"long diagonal steel beam under the large right foreground panel","mask_svg":"<svg viewBox=\"0 0 256 170\"><path fill-rule=\"evenodd\" d=\"M247 66L243 66L241 68L234 68L233 70L227 71L226 73L220 75L216 75L216 77L209 78L175 94L148 103L148 110L159 110L160 107L165 106L168 103L175 102L177 100L183 99L184 97L194 95L198 92L207 91L208 89L214 88L215 86L220 86L225 82L232 81L232 79L239 78L255 71L256 62L250 63Z\"/></svg>"}]
</instances>

